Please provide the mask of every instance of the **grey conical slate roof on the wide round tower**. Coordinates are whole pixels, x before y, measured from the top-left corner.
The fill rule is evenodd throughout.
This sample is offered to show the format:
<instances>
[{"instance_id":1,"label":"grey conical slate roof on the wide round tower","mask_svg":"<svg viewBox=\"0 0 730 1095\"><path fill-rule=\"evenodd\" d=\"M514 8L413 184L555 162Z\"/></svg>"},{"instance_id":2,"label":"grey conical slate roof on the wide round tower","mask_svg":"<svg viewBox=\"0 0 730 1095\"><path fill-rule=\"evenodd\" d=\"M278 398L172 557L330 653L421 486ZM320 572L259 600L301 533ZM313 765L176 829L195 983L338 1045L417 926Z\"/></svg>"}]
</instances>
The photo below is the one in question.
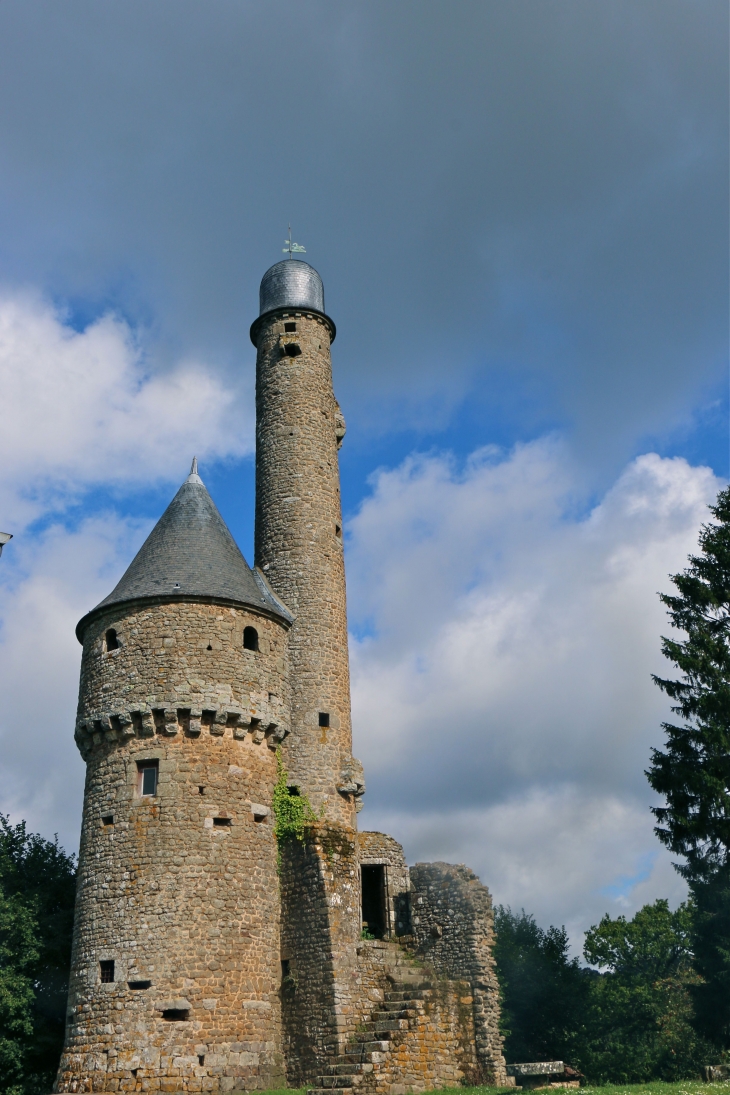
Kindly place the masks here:
<instances>
[{"instance_id":1,"label":"grey conical slate roof on the wide round tower","mask_svg":"<svg viewBox=\"0 0 730 1095\"><path fill-rule=\"evenodd\" d=\"M241 604L287 623L292 616L258 570L252 570L197 473L182 487L127 567L121 580L77 626L126 601L201 600Z\"/></svg>"}]
</instances>

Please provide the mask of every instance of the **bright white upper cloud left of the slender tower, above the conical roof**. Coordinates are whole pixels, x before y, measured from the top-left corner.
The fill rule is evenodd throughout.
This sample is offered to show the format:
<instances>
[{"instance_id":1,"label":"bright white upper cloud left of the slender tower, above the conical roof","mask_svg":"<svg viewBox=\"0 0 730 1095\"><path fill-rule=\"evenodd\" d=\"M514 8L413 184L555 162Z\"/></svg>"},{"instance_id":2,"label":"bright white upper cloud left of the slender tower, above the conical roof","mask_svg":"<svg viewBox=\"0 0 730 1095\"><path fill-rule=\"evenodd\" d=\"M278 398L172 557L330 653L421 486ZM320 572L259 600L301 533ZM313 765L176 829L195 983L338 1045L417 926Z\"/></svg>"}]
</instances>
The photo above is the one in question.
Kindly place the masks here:
<instances>
[{"instance_id":1,"label":"bright white upper cloud left of the slender tower, above the conical roof","mask_svg":"<svg viewBox=\"0 0 730 1095\"><path fill-rule=\"evenodd\" d=\"M0 295L0 393L9 528L95 484L179 479L195 453L253 448L250 393L197 361L155 374L121 320L79 333L31 293Z\"/></svg>"}]
</instances>

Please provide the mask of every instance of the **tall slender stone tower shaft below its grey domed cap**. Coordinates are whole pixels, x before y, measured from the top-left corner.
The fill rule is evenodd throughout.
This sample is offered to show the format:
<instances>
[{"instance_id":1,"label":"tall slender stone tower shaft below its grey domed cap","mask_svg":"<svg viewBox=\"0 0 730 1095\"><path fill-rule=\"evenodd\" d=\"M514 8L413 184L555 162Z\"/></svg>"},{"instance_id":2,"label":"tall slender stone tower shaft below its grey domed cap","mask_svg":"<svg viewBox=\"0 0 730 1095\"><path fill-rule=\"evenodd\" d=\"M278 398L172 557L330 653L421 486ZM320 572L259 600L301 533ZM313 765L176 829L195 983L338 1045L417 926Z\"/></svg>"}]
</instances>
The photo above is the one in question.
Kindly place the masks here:
<instances>
[{"instance_id":1,"label":"tall slender stone tower shaft below its grey domed cap","mask_svg":"<svg viewBox=\"0 0 730 1095\"><path fill-rule=\"evenodd\" d=\"M292 310L271 313L256 330L255 562L294 615L286 764L315 809L325 803L329 821L354 828L363 780L351 752L331 328L322 316Z\"/></svg>"}]
</instances>

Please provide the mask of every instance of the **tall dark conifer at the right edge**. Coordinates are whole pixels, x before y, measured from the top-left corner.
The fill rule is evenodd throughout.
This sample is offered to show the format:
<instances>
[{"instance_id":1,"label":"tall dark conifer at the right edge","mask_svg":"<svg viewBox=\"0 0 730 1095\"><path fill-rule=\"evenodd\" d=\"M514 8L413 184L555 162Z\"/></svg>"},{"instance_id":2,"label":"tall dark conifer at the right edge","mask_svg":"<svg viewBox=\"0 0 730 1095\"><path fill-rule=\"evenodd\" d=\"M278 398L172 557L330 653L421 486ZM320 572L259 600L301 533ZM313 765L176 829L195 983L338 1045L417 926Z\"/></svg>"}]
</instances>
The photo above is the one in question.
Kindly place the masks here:
<instances>
[{"instance_id":1,"label":"tall dark conifer at the right edge","mask_svg":"<svg viewBox=\"0 0 730 1095\"><path fill-rule=\"evenodd\" d=\"M686 639L663 638L679 680L654 677L682 722L664 723L667 744L654 750L649 783L664 796L654 808L659 839L684 857L697 914L694 990L696 1022L715 1045L730 1047L730 488L710 506L702 554L672 576L677 595L660 595Z\"/></svg>"}]
</instances>

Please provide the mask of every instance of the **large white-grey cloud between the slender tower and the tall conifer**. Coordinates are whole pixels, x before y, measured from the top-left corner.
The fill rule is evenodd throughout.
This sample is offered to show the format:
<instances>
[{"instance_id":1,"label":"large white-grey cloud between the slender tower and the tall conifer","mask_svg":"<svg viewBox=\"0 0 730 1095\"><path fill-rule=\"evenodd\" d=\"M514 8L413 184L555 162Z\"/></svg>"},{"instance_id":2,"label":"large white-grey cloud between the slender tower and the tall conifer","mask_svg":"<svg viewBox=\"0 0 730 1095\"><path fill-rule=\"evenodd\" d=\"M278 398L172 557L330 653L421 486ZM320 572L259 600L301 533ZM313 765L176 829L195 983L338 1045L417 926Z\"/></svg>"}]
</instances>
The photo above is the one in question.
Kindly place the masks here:
<instances>
[{"instance_id":1,"label":"large white-grey cloud between the slender tower and the tall conifer","mask_svg":"<svg viewBox=\"0 0 730 1095\"><path fill-rule=\"evenodd\" d=\"M682 892L644 776L668 712L657 590L720 486L647 454L576 516L577 480L555 439L412 458L375 476L348 557L366 827L573 933Z\"/></svg>"}]
</instances>

